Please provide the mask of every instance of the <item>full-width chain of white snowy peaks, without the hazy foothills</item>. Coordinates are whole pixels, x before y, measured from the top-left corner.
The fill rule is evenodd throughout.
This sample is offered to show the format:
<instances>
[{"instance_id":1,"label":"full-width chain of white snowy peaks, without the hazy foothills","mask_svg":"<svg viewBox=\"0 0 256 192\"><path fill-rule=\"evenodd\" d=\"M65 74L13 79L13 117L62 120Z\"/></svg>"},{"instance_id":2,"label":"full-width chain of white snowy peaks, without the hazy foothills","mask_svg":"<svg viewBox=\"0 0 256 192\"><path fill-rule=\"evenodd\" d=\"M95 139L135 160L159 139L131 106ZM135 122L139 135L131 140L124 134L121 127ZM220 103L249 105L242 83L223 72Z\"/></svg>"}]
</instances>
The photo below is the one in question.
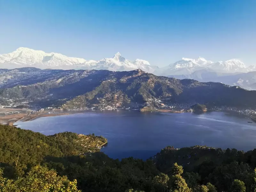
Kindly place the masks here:
<instances>
[{"instance_id":1,"label":"full-width chain of white snowy peaks, without the hazy foothills","mask_svg":"<svg viewBox=\"0 0 256 192\"><path fill-rule=\"evenodd\" d=\"M52 69L106 69L110 71L141 70L162 76L188 76L198 70L207 70L216 73L247 73L256 71L256 66L246 67L243 62L236 59L213 62L203 57L197 59L182 58L169 66L158 68L151 66L148 61L136 59L127 60L117 52L112 58L98 61L67 57L60 53L45 53L29 48L20 47L14 52L0 55L0 68L52 68Z\"/></svg>"}]
</instances>

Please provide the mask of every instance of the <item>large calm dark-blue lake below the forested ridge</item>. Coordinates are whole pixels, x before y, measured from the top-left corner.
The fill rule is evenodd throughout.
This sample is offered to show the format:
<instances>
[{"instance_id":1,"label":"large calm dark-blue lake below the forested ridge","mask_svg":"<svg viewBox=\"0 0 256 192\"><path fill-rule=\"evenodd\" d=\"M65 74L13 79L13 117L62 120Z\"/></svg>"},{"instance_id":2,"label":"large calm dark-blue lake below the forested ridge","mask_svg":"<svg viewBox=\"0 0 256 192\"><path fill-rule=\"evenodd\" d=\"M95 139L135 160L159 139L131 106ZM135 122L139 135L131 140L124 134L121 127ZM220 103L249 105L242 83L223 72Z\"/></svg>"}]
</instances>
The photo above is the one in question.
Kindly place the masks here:
<instances>
[{"instance_id":1,"label":"large calm dark-blue lake below the forested ridge","mask_svg":"<svg viewBox=\"0 0 256 192\"><path fill-rule=\"evenodd\" d=\"M16 124L45 135L64 131L102 135L108 139L108 145L101 151L109 157L147 159L168 145L254 149L256 123L247 121L251 120L224 112L177 114L115 110L41 117Z\"/></svg>"}]
</instances>

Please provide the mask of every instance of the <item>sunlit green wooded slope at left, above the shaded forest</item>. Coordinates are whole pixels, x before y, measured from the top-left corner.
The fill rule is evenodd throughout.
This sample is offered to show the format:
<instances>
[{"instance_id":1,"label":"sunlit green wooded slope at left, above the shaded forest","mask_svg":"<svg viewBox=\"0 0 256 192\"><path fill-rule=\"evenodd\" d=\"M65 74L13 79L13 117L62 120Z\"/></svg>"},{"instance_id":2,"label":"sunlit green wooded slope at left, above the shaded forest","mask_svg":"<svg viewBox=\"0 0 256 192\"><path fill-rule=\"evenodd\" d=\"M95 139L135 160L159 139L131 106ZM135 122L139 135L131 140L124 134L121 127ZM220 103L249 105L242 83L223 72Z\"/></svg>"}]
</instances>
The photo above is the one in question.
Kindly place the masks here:
<instances>
[{"instance_id":1,"label":"sunlit green wooded slope at left, above the shaded forest","mask_svg":"<svg viewBox=\"0 0 256 192\"><path fill-rule=\"evenodd\" d=\"M93 140L106 140L91 136ZM89 148L90 149L90 148ZM0 167L9 177L22 176L46 156L63 157L85 153L76 133L63 132L45 136L38 132L0 125Z\"/></svg>"}]
</instances>

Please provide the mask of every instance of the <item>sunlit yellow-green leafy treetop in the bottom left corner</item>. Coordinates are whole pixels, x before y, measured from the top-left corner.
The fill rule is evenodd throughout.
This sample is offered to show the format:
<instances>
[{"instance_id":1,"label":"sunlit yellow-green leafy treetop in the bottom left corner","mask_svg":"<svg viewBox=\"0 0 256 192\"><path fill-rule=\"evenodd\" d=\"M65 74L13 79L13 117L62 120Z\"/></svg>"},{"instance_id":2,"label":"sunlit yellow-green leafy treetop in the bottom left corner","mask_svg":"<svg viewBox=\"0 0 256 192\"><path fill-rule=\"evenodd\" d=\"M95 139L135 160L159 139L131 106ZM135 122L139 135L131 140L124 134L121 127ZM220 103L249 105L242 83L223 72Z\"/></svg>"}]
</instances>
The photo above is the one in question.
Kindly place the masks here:
<instances>
[{"instance_id":1,"label":"sunlit yellow-green leafy treetop in the bottom left corner","mask_svg":"<svg viewBox=\"0 0 256 192\"><path fill-rule=\"evenodd\" d=\"M3 177L0 169L1 192L81 192L76 187L76 180L69 181L66 176L58 176L56 171L43 166L35 166L25 177L10 180Z\"/></svg>"}]
</instances>

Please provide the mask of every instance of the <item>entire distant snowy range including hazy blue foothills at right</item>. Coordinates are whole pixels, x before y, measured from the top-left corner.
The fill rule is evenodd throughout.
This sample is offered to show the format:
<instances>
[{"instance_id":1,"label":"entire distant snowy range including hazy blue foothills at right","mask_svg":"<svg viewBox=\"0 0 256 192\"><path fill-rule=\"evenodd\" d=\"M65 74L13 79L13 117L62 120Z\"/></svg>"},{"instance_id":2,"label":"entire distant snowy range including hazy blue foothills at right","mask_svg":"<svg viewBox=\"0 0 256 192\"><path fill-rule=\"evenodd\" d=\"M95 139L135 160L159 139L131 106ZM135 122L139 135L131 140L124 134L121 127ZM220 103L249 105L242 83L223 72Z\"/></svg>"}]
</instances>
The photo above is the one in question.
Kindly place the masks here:
<instances>
[{"instance_id":1,"label":"entire distant snowy range including hazy blue foothills at right","mask_svg":"<svg viewBox=\"0 0 256 192\"><path fill-rule=\"evenodd\" d=\"M110 71L131 71L142 69L145 72L179 79L189 78L201 82L221 82L238 85L248 90L256 89L256 66L246 67L236 59L213 62L202 57L197 59L182 58L166 67L152 66L146 60L125 59L117 52L113 58L98 61L67 57L60 53L45 53L20 47L14 52L0 55L0 68L36 67L41 69L106 69ZM250 72L250 73L248 73Z\"/></svg>"}]
</instances>

